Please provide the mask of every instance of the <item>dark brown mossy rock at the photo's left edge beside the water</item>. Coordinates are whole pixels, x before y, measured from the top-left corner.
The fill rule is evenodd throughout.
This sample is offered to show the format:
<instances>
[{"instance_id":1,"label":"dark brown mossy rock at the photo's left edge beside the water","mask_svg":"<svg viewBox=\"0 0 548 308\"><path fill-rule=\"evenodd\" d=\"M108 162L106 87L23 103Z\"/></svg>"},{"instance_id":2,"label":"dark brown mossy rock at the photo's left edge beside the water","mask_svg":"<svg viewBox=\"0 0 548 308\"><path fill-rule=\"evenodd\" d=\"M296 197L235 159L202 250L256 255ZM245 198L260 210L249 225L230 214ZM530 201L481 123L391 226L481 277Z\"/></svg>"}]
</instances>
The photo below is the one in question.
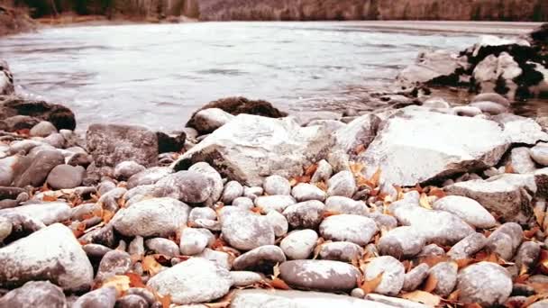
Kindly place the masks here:
<instances>
[{"instance_id":1,"label":"dark brown mossy rock at the photo's left edge beside the water","mask_svg":"<svg viewBox=\"0 0 548 308\"><path fill-rule=\"evenodd\" d=\"M51 122L58 130L76 128L74 113L60 104L27 100L19 96L0 96L0 120L14 115L28 115L42 121Z\"/></svg>"}]
</instances>

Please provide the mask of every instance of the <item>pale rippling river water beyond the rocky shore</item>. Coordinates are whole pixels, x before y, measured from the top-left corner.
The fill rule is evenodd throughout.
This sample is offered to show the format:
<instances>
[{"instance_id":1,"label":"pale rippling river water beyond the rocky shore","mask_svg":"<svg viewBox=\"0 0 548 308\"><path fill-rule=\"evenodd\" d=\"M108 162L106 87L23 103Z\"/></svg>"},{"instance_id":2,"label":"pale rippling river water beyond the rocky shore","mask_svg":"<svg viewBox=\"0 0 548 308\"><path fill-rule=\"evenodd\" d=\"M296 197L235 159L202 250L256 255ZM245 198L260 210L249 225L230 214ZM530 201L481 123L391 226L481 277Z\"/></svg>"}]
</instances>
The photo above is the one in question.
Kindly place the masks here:
<instances>
[{"instance_id":1,"label":"pale rippling river water beyond the rocky shore","mask_svg":"<svg viewBox=\"0 0 548 308\"><path fill-rule=\"evenodd\" d=\"M212 100L243 95L288 111L367 104L419 50L479 34L381 32L360 23L181 23L47 28L0 40L17 91L66 104L78 123L177 130ZM80 126L80 127L81 127Z\"/></svg>"}]
</instances>

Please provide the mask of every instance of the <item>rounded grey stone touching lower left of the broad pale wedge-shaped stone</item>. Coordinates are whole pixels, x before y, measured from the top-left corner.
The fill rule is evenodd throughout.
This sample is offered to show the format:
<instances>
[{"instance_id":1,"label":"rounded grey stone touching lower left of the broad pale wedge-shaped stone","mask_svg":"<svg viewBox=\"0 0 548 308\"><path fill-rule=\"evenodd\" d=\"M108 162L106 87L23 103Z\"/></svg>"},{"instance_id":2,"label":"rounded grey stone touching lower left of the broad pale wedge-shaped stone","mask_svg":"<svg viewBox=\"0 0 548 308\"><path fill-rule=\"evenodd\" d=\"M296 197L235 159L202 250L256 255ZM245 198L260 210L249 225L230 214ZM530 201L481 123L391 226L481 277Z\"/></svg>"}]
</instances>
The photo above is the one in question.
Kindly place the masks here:
<instances>
[{"instance_id":1,"label":"rounded grey stone touching lower left of the broad pale wedge-shaped stone","mask_svg":"<svg viewBox=\"0 0 548 308\"><path fill-rule=\"evenodd\" d=\"M398 227L379 240L379 253L403 259L416 256L425 247L425 237L414 227Z\"/></svg>"}]
</instances>

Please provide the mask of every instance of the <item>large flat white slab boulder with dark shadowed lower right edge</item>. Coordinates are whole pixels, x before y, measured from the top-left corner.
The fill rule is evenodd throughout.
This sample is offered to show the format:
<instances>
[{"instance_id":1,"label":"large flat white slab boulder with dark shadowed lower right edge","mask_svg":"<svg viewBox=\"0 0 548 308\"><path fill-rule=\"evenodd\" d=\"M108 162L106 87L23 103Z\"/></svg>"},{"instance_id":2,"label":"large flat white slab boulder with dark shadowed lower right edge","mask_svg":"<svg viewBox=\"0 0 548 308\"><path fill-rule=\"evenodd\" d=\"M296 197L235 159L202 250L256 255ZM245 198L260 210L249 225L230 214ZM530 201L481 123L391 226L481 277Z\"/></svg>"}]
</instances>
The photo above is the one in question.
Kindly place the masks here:
<instances>
[{"instance_id":1,"label":"large flat white slab boulder with dark shadowed lower right edge","mask_svg":"<svg viewBox=\"0 0 548 308\"><path fill-rule=\"evenodd\" d=\"M407 107L381 124L361 153L367 173L381 181L415 186L442 177L495 166L510 141L497 122Z\"/></svg>"}]
</instances>

